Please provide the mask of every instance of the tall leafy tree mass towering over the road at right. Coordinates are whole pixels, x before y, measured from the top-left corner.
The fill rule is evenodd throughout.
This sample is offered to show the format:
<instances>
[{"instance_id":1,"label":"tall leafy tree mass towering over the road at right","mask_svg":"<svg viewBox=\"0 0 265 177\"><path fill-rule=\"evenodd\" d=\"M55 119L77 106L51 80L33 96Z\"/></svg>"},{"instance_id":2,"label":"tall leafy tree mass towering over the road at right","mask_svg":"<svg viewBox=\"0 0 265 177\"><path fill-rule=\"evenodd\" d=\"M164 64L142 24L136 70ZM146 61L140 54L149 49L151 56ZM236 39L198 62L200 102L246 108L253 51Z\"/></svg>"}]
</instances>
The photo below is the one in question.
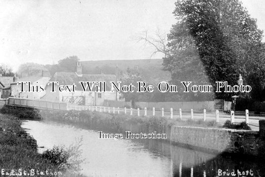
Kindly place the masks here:
<instances>
[{"instance_id":1,"label":"tall leafy tree mass towering over the road at right","mask_svg":"<svg viewBox=\"0 0 265 177\"><path fill-rule=\"evenodd\" d=\"M168 35L171 55L164 59L173 82L191 72L194 81L206 81L207 76L213 86L216 81L235 85L239 74L245 81L254 74L264 83L263 31L239 0L177 0L175 4L177 23Z\"/></svg>"}]
</instances>

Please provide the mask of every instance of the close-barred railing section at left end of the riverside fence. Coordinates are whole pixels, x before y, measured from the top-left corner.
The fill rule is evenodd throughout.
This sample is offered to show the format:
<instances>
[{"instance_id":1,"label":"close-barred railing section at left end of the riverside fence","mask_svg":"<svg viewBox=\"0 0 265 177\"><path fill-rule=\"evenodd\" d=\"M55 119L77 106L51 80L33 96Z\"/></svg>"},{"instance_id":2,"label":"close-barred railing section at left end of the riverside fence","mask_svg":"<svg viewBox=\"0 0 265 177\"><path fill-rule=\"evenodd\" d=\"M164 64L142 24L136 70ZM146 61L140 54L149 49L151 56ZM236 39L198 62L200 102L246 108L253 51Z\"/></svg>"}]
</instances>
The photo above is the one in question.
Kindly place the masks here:
<instances>
[{"instance_id":1,"label":"close-barred railing section at left end of the riverside fence","mask_svg":"<svg viewBox=\"0 0 265 177\"><path fill-rule=\"evenodd\" d=\"M55 109L55 110L67 110L66 102L59 101L47 101L42 99L27 99L9 97L8 105L21 106L21 107L34 107L38 109Z\"/></svg>"}]
</instances>

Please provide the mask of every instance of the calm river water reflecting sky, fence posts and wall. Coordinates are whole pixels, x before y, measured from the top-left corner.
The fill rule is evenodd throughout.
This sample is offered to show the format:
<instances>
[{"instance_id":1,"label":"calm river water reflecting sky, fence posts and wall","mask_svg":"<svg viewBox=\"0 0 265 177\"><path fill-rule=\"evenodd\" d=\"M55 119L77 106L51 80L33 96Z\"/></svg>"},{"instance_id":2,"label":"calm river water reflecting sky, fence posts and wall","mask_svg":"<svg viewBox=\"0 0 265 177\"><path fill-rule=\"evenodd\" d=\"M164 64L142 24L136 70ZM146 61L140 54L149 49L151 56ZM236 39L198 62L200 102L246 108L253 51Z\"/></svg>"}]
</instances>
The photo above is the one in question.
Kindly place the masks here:
<instances>
[{"instance_id":1,"label":"calm river water reflecting sky, fence posts and wall","mask_svg":"<svg viewBox=\"0 0 265 177\"><path fill-rule=\"evenodd\" d=\"M82 138L82 174L88 177L265 177L265 163L244 157L224 157L156 140L99 139L98 131L58 122L24 121L39 151L54 145L69 147ZM237 171L238 170L238 171ZM219 171L219 174L218 174ZM252 173L251 173L252 172ZM241 175L240 175L241 174Z\"/></svg>"}]
</instances>

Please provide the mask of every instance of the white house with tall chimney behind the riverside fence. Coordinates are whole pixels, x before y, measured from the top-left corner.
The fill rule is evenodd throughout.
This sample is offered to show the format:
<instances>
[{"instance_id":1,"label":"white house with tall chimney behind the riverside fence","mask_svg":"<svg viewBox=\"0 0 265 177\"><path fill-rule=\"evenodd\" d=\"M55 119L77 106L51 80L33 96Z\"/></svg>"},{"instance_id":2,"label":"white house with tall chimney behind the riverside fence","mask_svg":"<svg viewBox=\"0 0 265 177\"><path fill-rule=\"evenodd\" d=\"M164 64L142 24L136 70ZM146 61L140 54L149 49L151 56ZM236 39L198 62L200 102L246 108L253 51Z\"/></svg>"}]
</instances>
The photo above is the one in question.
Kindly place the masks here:
<instances>
[{"instance_id":1,"label":"white house with tall chimney behind the riverside fence","mask_svg":"<svg viewBox=\"0 0 265 177\"><path fill-rule=\"evenodd\" d=\"M52 92L52 84L47 85L45 100L62 101L72 104L82 105L103 105L105 99L115 100L115 92L111 91L110 82L115 82L115 75L104 74L83 74L81 62L77 62L76 72L56 72L50 82L58 82L59 85L70 86L69 89L64 88L64 91L59 91L59 86L54 84L54 92ZM105 82L106 91L96 91L95 85L91 91L84 91L80 82ZM76 85L73 91L73 85ZM92 84L91 84L92 85ZM86 83L84 84L86 86Z\"/></svg>"}]
</instances>

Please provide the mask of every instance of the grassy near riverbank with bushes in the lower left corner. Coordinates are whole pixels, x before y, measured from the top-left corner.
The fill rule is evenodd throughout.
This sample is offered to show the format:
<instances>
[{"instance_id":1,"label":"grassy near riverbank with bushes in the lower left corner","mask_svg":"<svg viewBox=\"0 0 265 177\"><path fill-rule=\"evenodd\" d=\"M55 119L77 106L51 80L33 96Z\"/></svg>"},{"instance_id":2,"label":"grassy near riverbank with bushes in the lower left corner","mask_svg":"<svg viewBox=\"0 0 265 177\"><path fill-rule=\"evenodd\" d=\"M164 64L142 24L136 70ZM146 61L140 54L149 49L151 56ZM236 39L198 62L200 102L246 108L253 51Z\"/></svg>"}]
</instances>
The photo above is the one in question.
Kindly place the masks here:
<instances>
[{"instance_id":1,"label":"grassy near riverbank with bushes in the lower left corner","mask_svg":"<svg viewBox=\"0 0 265 177\"><path fill-rule=\"evenodd\" d=\"M57 157L53 155L57 154ZM62 165L65 149L51 149L38 153L37 142L24 129L21 120L7 114L0 114L0 168L1 176L28 175L82 177L67 171ZM52 157L53 156L53 157ZM51 158L52 157L52 158ZM59 160L59 161L58 161ZM55 163L55 162L59 163Z\"/></svg>"}]
</instances>

